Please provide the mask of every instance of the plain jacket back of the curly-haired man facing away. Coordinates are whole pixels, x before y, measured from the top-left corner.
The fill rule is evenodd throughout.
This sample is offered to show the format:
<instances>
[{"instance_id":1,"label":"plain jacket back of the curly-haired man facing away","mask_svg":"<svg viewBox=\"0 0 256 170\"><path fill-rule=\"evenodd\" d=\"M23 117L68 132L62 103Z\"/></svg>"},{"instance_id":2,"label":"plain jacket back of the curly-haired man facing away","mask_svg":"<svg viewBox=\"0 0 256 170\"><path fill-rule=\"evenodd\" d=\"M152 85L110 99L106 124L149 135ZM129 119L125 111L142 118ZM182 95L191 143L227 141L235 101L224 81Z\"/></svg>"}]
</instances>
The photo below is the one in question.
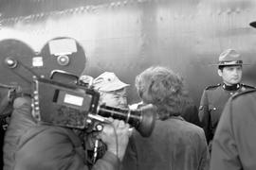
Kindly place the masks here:
<instances>
[{"instance_id":1,"label":"plain jacket back of the curly-haired man facing away","mask_svg":"<svg viewBox=\"0 0 256 170\"><path fill-rule=\"evenodd\" d=\"M123 170L207 170L209 151L201 127L181 117L155 122L149 138L133 133Z\"/></svg>"}]
</instances>

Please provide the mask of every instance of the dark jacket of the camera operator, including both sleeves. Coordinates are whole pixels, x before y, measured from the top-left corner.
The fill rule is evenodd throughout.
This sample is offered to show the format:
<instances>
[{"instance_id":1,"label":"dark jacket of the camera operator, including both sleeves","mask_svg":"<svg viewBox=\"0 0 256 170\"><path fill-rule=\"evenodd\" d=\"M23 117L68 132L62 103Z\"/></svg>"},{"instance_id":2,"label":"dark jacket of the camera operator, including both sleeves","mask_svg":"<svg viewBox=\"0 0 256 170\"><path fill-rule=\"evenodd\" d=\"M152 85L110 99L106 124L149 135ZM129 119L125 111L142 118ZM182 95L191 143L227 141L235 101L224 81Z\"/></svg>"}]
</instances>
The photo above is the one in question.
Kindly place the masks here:
<instances>
[{"instance_id":1,"label":"dark jacket of the camera operator, including both sleeves","mask_svg":"<svg viewBox=\"0 0 256 170\"><path fill-rule=\"evenodd\" d=\"M89 169L82 140L71 128L36 124L30 101L21 98L15 102L5 137L4 170ZM92 169L115 170L119 166L118 157L106 152Z\"/></svg>"}]
</instances>

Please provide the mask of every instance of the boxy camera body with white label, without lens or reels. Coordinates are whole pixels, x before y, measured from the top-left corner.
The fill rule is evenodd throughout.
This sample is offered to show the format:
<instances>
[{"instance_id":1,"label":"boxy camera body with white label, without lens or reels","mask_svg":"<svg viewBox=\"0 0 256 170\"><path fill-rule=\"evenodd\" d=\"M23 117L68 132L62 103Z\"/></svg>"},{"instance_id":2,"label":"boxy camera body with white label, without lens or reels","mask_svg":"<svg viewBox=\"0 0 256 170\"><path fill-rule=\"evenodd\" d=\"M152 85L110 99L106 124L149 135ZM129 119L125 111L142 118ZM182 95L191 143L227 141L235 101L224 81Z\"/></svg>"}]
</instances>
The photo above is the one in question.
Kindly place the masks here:
<instances>
[{"instance_id":1,"label":"boxy camera body with white label, without lens or reels","mask_svg":"<svg viewBox=\"0 0 256 170\"><path fill-rule=\"evenodd\" d=\"M100 93L82 85L36 78L33 83L34 117L47 124L85 128L89 113L96 113Z\"/></svg>"}]
</instances>

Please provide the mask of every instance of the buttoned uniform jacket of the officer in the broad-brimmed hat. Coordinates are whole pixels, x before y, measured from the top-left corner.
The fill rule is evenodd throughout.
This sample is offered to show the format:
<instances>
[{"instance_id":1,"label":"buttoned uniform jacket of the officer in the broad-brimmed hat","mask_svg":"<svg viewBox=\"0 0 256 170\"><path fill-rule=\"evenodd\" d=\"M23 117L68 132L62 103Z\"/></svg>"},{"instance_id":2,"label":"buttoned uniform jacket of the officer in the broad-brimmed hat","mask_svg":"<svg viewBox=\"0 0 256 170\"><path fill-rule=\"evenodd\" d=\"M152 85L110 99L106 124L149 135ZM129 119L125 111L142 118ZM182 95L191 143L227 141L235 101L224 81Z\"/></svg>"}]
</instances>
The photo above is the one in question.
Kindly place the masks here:
<instances>
[{"instance_id":1,"label":"buttoned uniform jacket of the officer in the broad-brimmed hat","mask_svg":"<svg viewBox=\"0 0 256 170\"><path fill-rule=\"evenodd\" d=\"M229 97L235 93L254 89L244 84L239 84L236 89L226 87L227 86L224 84L210 86L204 90L201 97L198 116L205 130L208 143L210 143L213 138L222 110L229 100Z\"/></svg>"}]
</instances>

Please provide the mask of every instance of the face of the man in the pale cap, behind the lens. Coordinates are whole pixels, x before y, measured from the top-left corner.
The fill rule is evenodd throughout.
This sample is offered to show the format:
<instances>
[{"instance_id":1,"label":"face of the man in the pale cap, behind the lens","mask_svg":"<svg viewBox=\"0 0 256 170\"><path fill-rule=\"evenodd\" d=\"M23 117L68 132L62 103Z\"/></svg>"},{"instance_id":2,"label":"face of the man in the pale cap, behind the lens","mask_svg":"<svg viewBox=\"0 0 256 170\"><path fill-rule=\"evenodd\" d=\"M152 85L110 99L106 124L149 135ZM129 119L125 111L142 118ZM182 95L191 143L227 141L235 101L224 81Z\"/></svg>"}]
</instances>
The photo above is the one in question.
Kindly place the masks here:
<instances>
[{"instance_id":1,"label":"face of the man in the pale cap, behind the lens","mask_svg":"<svg viewBox=\"0 0 256 170\"><path fill-rule=\"evenodd\" d=\"M115 108L127 108L127 94L126 89L120 89L118 91L112 92L102 92L101 93L101 104Z\"/></svg>"}]
</instances>

